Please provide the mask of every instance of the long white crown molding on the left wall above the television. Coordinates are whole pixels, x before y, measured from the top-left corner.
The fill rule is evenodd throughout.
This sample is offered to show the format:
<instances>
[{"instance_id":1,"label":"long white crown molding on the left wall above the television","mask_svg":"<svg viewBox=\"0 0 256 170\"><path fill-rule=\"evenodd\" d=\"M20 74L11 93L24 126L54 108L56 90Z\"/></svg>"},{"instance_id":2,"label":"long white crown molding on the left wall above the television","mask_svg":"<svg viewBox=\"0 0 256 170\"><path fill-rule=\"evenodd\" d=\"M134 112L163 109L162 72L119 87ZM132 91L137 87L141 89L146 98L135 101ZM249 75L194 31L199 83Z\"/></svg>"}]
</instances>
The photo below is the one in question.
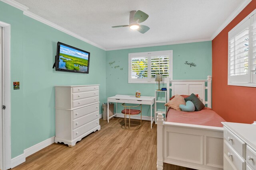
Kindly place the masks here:
<instances>
[{"instance_id":1,"label":"long white crown molding on the left wall above the television","mask_svg":"<svg viewBox=\"0 0 256 170\"><path fill-rule=\"evenodd\" d=\"M33 18L34 20L37 20L37 21L42 22L42 23L44 23L46 25L49 25L50 27L58 29L59 31L62 31L62 32L68 34L68 35L71 35L72 37L80 39L80 40L82 40L82 41L84 41L84 42L86 42L86 43L88 43L90 45L93 45L95 47L98 47L98 48L103 49L103 50L106 51L106 48L104 48L104 47L102 47L102 46L100 46L100 45L98 45L98 44L96 44L96 43L94 43L92 41L89 41L88 39L85 39L84 37L81 37L80 35L77 35L76 33L73 33L73 32L71 32L71 31L69 31L69 30L67 30L67 29L65 29L63 27L60 27L59 25L57 25L55 23L52 23L51 21L48 21L48 20L46 20L46 19L44 19L44 18L42 18L42 17L40 17L40 16L38 16L38 15L32 13L32 12L24 11L23 14L25 16Z\"/></svg>"}]
</instances>

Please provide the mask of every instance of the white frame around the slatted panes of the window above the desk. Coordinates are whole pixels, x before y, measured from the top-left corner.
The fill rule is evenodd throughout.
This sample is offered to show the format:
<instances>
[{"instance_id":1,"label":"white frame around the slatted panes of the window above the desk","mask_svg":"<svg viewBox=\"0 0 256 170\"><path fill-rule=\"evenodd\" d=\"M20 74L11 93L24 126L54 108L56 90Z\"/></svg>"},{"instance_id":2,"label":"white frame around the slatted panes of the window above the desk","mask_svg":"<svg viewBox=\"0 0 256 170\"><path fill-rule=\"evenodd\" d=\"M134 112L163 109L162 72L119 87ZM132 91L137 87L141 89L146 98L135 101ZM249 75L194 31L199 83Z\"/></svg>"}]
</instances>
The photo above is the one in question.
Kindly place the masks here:
<instances>
[{"instance_id":1,"label":"white frame around the slatted panes of the window above the desk","mask_svg":"<svg viewBox=\"0 0 256 170\"><path fill-rule=\"evenodd\" d=\"M150 51L142 53L129 53L128 54L128 83L146 83L146 84L155 84L154 78L151 78L151 57L156 55L168 55L169 56L169 77L163 78L163 82L169 78L172 80L173 77L173 60L172 60L172 50L166 51ZM132 58L148 58L148 78L132 78ZM162 83L163 83L162 82ZM161 83L161 82L160 82Z\"/></svg>"}]
</instances>

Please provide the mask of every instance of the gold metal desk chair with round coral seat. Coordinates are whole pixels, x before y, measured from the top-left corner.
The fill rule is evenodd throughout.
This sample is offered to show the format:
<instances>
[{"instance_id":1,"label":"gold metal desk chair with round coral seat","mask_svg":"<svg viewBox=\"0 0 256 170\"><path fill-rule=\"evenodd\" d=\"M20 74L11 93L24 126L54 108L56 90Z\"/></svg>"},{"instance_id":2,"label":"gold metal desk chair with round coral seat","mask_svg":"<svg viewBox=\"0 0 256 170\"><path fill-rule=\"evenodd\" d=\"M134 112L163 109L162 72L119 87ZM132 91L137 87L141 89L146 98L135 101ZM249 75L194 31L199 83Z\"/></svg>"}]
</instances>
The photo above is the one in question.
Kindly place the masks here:
<instances>
[{"instance_id":1,"label":"gold metal desk chair with round coral seat","mask_svg":"<svg viewBox=\"0 0 256 170\"><path fill-rule=\"evenodd\" d=\"M125 130L130 130L130 131L134 131L134 130L138 130L140 129L141 125L142 125L142 105L137 105L137 106L126 106L125 103L122 104L122 106L124 106L124 109L122 110L122 113L124 114L124 124L122 124L121 128L125 129ZM137 109L131 109L134 107L139 107L140 106L140 110ZM138 115L140 114L140 121L136 121L136 122L140 122L140 125L137 124L131 124L130 123L130 115ZM129 127L127 128L127 115L129 115ZM134 120L133 120L134 121ZM131 125L137 125L136 129L131 129L130 126Z\"/></svg>"}]
</instances>

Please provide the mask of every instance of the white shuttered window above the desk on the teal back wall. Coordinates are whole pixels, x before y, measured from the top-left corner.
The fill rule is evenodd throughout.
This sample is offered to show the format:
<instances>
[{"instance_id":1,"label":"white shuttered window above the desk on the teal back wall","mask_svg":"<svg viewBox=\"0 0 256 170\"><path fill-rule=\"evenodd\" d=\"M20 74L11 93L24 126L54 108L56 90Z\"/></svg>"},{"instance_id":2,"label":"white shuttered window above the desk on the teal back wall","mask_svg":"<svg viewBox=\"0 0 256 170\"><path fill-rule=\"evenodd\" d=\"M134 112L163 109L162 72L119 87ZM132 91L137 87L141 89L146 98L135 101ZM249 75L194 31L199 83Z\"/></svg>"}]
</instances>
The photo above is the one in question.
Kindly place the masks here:
<instances>
[{"instance_id":1,"label":"white shuttered window above the desk on the teal back wall","mask_svg":"<svg viewBox=\"0 0 256 170\"><path fill-rule=\"evenodd\" d=\"M129 54L129 83L155 83L155 75L172 78L172 50Z\"/></svg>"}]
</instances>

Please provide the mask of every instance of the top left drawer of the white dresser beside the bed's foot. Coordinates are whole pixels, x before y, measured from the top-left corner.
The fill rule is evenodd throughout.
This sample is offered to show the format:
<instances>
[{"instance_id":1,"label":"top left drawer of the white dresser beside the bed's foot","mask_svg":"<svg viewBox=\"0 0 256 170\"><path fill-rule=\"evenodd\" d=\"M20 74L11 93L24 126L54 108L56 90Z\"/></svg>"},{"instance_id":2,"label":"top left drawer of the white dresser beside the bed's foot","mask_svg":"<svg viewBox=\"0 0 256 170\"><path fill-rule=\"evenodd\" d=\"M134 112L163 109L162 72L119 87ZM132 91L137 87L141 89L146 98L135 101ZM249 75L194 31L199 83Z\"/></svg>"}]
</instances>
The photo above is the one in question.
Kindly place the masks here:
<instances>
[{"instance_id":1,"label":"top left drawer of the white dresser beside the bed's foot","mask_svg":"<svg viewBox=\"0 0 256 170\"><path fill-rule=\"evenodd\" d=\"M224 138L240 156L245 158L245 143L238 139L238 137L236 137L236 135L230 132L226 127L224 127Z\"/></svg>"}]
</instances>

